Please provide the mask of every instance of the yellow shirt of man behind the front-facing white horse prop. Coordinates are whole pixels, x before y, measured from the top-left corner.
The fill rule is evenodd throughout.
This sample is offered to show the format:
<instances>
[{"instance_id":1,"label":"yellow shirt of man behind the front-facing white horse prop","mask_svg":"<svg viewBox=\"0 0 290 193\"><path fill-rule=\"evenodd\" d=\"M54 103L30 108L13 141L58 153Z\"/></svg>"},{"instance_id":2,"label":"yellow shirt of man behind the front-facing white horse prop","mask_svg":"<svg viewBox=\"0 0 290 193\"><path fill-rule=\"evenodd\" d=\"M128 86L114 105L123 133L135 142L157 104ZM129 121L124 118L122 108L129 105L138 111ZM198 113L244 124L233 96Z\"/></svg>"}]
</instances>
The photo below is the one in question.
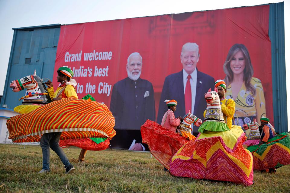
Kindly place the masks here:
<instances>
[{"instance_id":1,"label":"yellow shirt of man behind the front-facing white horse prop","mask_svg":"<svg viewBox=\"0 0 290 193\"><path fill-rule=\"evenodd\" d=\"M227 106L226 106L226 101L227 101ZM221 111L223 112L224 115L224 121L227 120L227 126L231 129L232 128L232 123L233 123L233 117L235 113L235 106L236 103L232 99L225 99L221 101ZM206 112L206 110L205 110ZM203 112L203 117L205 117L205 112ZM226 119L227 117L227 119Z\"/></svg>"}]
</instances>

